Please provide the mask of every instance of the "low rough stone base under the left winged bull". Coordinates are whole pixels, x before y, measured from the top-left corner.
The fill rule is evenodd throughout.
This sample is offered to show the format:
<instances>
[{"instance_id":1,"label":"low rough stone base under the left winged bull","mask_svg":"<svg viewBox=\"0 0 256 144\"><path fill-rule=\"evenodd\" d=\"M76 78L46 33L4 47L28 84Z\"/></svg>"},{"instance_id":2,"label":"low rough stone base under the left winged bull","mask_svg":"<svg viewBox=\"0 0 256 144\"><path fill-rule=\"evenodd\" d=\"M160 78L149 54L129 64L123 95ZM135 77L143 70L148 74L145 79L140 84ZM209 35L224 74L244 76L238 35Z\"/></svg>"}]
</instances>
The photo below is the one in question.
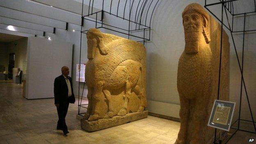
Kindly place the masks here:
<instances>
[{"instance_id":1,"label":"low rough stone base under the left winged bull","mask_svg":"<svg viewBox=\"0 0 256 144\"><path fill-rule=\"evenodd\" d=\"M81 119L81 128L88 131L94 132L114 126L119 126L128 122L137 121L139 119L145 119L148 117L149 111L133 112L128 113L124 116L114 116L111 119L99 119L98 121L88 121Z\"/></svg>"}]
</instances>

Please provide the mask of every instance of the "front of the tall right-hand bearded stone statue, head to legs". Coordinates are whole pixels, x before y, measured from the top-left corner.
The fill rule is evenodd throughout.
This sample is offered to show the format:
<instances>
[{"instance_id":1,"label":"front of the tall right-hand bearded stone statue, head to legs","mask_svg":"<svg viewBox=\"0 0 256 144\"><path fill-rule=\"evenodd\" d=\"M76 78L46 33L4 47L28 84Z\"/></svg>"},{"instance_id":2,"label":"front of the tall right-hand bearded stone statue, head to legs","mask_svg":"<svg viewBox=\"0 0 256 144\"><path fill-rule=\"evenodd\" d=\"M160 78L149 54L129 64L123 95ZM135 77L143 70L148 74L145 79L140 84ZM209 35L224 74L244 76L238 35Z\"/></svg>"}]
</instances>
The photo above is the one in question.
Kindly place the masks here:
<instances>
[{"instance_id":1,"label":"front of the tall right-hand bearded stone statue, head to legs","mask_svg":"<svg viewBox=\"0 0 256 144\"><path fill-rule=\"evenodd\" d=\"M206 144L206 109L212 80L209 15L201 5L192 3L185 7L182 17L185 50L178 62L177 76L181 128L175 144Z\"/></svg>"}]
</instances>

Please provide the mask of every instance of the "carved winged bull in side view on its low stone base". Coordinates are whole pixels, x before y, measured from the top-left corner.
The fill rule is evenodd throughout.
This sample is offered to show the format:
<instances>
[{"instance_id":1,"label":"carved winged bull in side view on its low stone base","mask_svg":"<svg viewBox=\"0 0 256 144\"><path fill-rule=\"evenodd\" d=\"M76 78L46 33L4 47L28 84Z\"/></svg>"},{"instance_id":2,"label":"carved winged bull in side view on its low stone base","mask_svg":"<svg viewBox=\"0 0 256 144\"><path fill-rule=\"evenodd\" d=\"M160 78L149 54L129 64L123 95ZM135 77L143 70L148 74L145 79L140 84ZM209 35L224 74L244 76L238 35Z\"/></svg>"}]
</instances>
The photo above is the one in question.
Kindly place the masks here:
<instances>
[{"instance_id":1,"label":"carved winged bull in side view on its low stone base","mask_svg":"<svg viewBox=\"0 0 256 144\"><path fill-rule=\"evenodd\" d=\"M92 132L146 118L144 45L95 28L87 32L87 45L89 105L81 128Z\"/></svg>"}]
</instances>

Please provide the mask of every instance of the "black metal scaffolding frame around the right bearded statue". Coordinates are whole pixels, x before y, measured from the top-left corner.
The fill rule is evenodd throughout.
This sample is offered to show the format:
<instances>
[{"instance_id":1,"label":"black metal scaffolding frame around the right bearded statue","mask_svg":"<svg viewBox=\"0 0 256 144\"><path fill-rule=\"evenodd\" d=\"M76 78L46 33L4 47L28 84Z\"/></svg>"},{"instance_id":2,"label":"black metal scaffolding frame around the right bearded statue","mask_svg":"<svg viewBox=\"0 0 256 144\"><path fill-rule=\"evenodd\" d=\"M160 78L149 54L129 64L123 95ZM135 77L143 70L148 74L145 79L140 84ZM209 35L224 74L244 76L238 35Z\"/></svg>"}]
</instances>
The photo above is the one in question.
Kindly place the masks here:
<instances>
[{"instance_id":1,"label":"black metal scaffolding frame around the right bearded statue","mask_svg":"<svg viewBox=\"0 0 256 144\"><path fill-rule=\"evenodd\" d=\"M209 1L209 0L208 0ZM234 1L239 1L239 0L219 0L219 2L216 3L211 3L211 4L207 4L207 0L205 0L205 5L204 7L215 17L217 18L217 20L221 23L221 27L226 27L226 29L229 30L230 34L231 34L231 38L232 38L232 42L233 42L233 46L234 46L234 50L235 50L235 54L236 54L236 58L238 60L238 65L239 65L239 69L240 69L240 73L241 73L241 86L240 86L240 101L239 101L239 117L238 119L233 123L235 124L238 121L238 127L233 127L231 126L231 128L235 129L235 132L231 135L231 137L233 137L233 135L238 131L245 131L245 132L249 132L249 133L256 133L256 126L255 123L256 121L254 121L254 117L253 114L251 112L251 104L249 101L249 96L247 94L247 89L246 89L246 85L245 85L245 79L244 79L244 75L243 75L243 70L244 70L244 48L245 48L245 33L246 32L255 32L256 30L245 30L245 25L246 25L246 16L248 16L248 14L256 14L256 1L255 0L251 0L254 3L254 10L253 11L249 11L249 12L244 12L244 13L238 13L235 14L234 13ZM208 7L210 6L214 6L214 5L222 5L222 13L221 13L221 18L218 18L212 11L210 11L210 9ZM230 14L232 16L232 18L229 18L228 14ZM228 25L224 24L224 15L226 16L226 20ZM235 16L243 16L244 21L243 21L243 30L242 31L234 31L233 30L233 24L234 24L234 18ZM231 20L230 20L231 19ZM231 22L231 23L230 23ZM223 29L221 29L223 30ZM239 58L238 58L238 52L237 52L237 47L235 45L235 40L233 37L233 33L238 33L238 32L242 32L243 34L243 40L242 40L242 62L240 62ZM222 57L222 32L221 32L221 42L220 42L220 59L219 59L219 83L220 84L220 73L221 73L221 57ZM242 101L242 87L244 87L245 89L245 94L246 94L246 98L247 98L247 103L249 105L249 110L250 110L250 114L251 114L251 121L245 120L245 119L241 119L240 115L241 115L241 101ZM219 99L219 85L218 85L218 98ZM240 128L240 121L248 121L248 122L252 122L254 125L254 132L253 131L249 131L249 130L244 130ZM221 144L222 141L216 138L216 133L217 133L217 129L215 128L215 139L214 139L214 144ZM229 139L231 139L231 137L229 137ZM229 139L227 140L227 142L229 141ZM219 140L219 142L217 143L217 140Z\"/></svg>"}]
</instances>

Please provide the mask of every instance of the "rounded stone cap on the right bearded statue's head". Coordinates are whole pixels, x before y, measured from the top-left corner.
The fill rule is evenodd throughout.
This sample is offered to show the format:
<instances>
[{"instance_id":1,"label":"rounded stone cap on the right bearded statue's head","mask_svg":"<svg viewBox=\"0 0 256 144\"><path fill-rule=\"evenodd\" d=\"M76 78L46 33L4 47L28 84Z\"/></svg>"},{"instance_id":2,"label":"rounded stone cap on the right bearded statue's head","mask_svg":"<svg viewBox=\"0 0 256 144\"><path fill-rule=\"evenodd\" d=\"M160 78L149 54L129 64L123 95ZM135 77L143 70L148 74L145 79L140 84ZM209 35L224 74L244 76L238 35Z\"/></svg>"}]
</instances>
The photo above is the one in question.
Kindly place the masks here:
<instances>
[{"instance_id":1,"label":"rounded stone cap on the right bearded statue's head","mask_svg":"<svg viewBox=\"0 0 256 144\"><path fill-rule=\"evenodd\" d=\"M196 11L199 14L202 14L207 21L209 21L209 14L207 13L207 11L198 3L192 3L187 5L187 7L185 7L184 11L182 12L182 17L188 12L188 11Z\"/></svg>"}]
</instances>

